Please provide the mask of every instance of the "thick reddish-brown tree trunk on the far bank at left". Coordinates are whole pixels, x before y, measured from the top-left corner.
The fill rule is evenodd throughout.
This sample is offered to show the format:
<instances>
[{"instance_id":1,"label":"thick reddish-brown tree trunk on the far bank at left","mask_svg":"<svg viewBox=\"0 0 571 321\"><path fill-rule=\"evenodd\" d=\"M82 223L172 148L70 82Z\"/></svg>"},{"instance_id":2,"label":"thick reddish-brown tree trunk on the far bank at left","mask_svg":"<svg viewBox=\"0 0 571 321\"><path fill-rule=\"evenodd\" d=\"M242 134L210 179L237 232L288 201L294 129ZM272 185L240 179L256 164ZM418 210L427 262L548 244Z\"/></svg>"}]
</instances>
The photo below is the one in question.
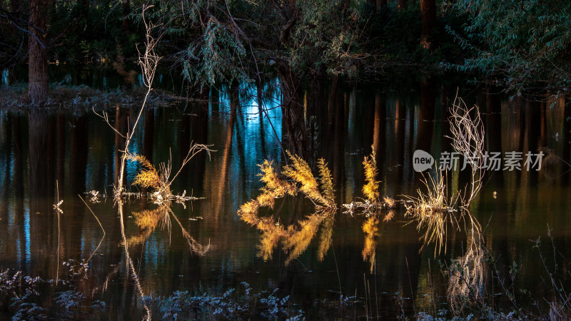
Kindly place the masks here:
<instances>
[{"instance_id":1,"label":"thick reddish-brown tree trunk on the far bank at left","mask_svg":"<svg viewBox=\"0 0 571 321\"><path fill-rule=\"evenodd\" d=\"M48 55L45 48L47 8L45 0L30 0L29 94L32 103L39 104L44 103L48 97Z\"/></svg>"}]
</instances>

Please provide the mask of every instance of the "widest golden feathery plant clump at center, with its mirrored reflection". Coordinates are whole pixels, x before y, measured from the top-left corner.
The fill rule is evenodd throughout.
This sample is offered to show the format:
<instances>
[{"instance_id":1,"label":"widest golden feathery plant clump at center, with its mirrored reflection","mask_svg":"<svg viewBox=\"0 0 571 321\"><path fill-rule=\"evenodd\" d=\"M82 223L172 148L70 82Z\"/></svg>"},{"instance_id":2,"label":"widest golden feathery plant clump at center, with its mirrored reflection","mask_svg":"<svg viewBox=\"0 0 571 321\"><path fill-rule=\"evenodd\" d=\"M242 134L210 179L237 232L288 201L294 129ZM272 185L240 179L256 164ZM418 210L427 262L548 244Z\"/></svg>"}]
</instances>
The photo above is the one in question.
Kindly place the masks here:
<instances>
[{"instance_id":1,"label":"widest golden feathery plant clump at center, with its mirrored reflection","mask_svg":"<svg viewBox=\"0 0 571 321\"><path fill-rule=\"evenodd\" d=\"M261 188L262 193L255 199L244 203L238 210L238 217L241 220L256 226L261 231L258 257L264 260L271 259L273 249L281 242L288 251L288 259L285 264L289 264L291 260L297 258L308 248L323 220L332 218L333 211L336 209L333 180L323 158L317 163L320 174L318 180L311 172L308 163L289 152L288 156L290 165L285 165L281 174L290 178L291 181L282 178L271 161L264 161L258 165L261 169L261 173L258 175L261 176L260 180L264 184ZM260 218L258 216L258 210L261 207L273 208L276 198L283 198L285 195L295 196L298 192L309 198L315 204L318 212L308 216L305 220L298 220L288 228L276 223L276 219L273 217ZM321 233L318 260L323 260L331 245L333 220L327 220L327 222Z\"/></svg>"}]
</instances>

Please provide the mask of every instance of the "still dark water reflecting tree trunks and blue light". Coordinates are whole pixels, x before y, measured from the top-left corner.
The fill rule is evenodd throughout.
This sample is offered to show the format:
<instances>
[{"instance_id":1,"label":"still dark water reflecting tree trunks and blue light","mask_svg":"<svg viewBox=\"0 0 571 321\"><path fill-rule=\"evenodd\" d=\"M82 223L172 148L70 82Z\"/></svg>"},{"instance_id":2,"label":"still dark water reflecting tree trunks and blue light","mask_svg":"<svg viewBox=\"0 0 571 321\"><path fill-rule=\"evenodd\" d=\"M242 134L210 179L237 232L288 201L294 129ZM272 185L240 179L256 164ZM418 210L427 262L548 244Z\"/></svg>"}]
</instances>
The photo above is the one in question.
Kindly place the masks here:
<instances>
[{"instance_id":1,"label":"still dark water reflecting tree trunks and blue light","mask_svg":"<svg viewBox=\"0 0 571 321\"><path fill-rule=\"evenodd\" d=\"M278 225L298 229L288 238L272 242L268 230L240 220L238 208L256 198L262 186L257 164L265 159L285 162L276 139L285 141L288 126L281 93L277 81L264 86L270 97L267 115L258 107L256 88L246 86L212 90L208 101L151 106L143 113L131 151L152 163L172 159L178 168L192 141L216 151L193 158L172 186L174 193L186 191L201 199L173 203L170 210L145 198L127 200L124 238L113 198L90 200L86 194L95 190L111 195L118 179L123 141L105 121L94 113L0 112L0 270L70 280L68 263L87 263L87 277L76 280L76 290L105 302L104 315L113 319L143 317L140 292L153 297L177 290L220 295L243 287L241 282L255 292L279 289L278 296L290 295L291 304L310 318L396 317L401 307L406 315L447 308L448 271L443 265L464 255L468 237L462 229L449 228L445 252L435 254L435 245L423 246L422 231L403 209L389 222L343 210L313 215L313 204L301 196L276 200L273 210L261 211ZM310 128L310 164L320 157L328 162L338 207L363 198L362 162L371 149L377 156L380 194L395 199L417 195L423 185L413 170L413 153L422 149L438 157L452 151L445 136L455 93L455 86L435 81L398 88L307 86L300 103ZM486 173L470 205L482 225L485 246L497 260L497 271L491 265L483 268L485 293L494 298L492 304L509 311L495 272L508 278L514 262L520 268L515 288L537 298L550 295L545 267L532 248L541 237L542 254L552 270L548 229L558 253L557 272L570 268L562 258L571 257L566 247L571 237L571 108L565 108L562 98L510 99L479 89L460 94L468 105L480 106L487 151L525 154L543 148L547 153L540 171ZM108 115L125 131L136 110L111 106ZM132 182L138 170L140 166L128 163L126 180ZM455 171L449 176L448 183L458 186L470 175ZM54 210L59 200L64 200L61 213ZM327 302L336 306L340 293L352 298L342 310L331 310ZM55 295L45 290L39 302L49 309ZM7 307L0 309L0 315L10 313Z\"/></svg>"}]
</instances>

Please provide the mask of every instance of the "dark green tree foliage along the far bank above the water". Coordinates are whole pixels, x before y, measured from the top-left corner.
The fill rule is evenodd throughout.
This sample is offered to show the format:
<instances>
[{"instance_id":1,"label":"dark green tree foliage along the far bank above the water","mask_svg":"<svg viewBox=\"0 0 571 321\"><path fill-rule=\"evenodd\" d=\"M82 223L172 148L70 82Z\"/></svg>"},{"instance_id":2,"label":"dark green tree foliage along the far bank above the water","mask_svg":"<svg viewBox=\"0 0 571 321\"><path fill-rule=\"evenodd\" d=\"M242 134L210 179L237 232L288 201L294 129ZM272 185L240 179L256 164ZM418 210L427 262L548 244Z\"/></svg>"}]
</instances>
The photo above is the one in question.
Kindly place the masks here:
<instances>
[{"instance_id":1,"label":"dark green tree foliage along the far bank above the water","mask_svg":"<svg viewBox=\"0 0 571 321\"><path fill-rule=\"evenodd\" d=\"M36 12L9 2L0 11L0 66L36 57L29 58L34 103L48 98L49 61L113 63L130 76L121 65L137 61L145 41L142 4L58 0ZM31 23L28 14L42 19ZM556 0L151 1L147 15L161 34L162 62L198 96L273 74L287 106L308 79L370 81L407 66L460 73L513 95L571 86L571 4Z\"/></svg>"}]
</instances>

